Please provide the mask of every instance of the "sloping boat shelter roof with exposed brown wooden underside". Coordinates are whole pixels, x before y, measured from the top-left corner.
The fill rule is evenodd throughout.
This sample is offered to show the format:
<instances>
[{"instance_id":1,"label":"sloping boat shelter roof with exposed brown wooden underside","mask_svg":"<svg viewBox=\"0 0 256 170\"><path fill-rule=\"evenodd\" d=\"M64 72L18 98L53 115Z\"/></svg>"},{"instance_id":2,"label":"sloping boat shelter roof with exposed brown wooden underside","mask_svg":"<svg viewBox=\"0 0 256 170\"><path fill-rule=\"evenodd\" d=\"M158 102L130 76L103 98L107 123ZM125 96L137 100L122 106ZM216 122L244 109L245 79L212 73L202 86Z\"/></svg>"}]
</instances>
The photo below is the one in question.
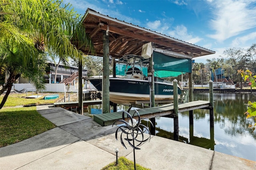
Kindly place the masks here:
<instances>
[{"instance_id":1,"label":"sloping boat shelter roof with exposed brown wooden underside","mask_svg":"<svg viewBox=\"0 0 256 170\"><path fill-rule=\"evenodd\" d=\"M190 55L190 57L215 53L215 51L99 14L89 8L82 23L86 33L92 38L97 56L103 56L103 30L108 30L109 34L109 54L116 58L129 54L141 55L142 45L148 42L154 42L155 48ZM91 55L85 47L81 47L80 50Z\"/></svg>"}]
</instances>

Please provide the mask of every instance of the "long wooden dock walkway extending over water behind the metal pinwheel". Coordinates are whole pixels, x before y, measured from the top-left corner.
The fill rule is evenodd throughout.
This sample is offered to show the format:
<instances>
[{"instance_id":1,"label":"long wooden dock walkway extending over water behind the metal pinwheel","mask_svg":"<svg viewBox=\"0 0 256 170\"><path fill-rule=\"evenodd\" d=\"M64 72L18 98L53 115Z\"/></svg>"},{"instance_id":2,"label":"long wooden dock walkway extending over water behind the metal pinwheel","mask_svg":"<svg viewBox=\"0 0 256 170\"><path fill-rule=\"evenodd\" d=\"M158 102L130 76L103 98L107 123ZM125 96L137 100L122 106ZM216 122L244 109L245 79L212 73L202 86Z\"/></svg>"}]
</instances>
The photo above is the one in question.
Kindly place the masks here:
<instances>
[{"instance_id":1,"label":"long wooden dock walkway extending over water behind the metal pinwheel","mask_svg":"<svg viewBox=\"0 0 256 170\"><path fill-rule=\"evenodd\" d=\"M178 112L191 111L194 109L208 109L210 107L210 101L192 101L188 103L180 103L178 105ZM159 107L150 107L140 109L140 117L142 118L154 118L160 116L167 116L174 114L173 104L162 105ZM132 110L130 113L133 114ZM136 117L134 117L136 119ZM114 113L104 113L102 115L94 115L94 121L101 126L112 125L114 121L122 119L122 111ZM127 120L126 120L127 121Z\"/></svg>"}]
</instances>

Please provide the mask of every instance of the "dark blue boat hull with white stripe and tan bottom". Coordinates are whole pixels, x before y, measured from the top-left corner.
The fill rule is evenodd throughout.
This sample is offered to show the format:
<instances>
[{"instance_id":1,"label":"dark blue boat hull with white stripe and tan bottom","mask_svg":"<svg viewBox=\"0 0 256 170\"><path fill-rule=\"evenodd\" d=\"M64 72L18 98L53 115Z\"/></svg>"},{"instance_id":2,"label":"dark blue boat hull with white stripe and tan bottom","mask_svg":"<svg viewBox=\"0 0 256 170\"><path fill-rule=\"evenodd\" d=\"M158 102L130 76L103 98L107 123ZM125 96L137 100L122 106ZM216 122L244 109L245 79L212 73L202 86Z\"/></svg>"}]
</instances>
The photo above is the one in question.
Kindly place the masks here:
<instances>
[{"instance_id":1,"label":"dark blue boat hull with white stripe and tan bottom","mask_svg":"<svg viewBox=\"0 0 256 170\"><path fill-rule=\"evenodd\" d=\"M141 101L150 101L150 83L147 80L123 78L109 78L110 101L122 105L137 104ZM90 78L94 87L102 93L102 79ZM155 101L172 100L173 85L164 82L155 82ZM178 93L181 93L178 87Z\"/></svg>"}]
</instances>

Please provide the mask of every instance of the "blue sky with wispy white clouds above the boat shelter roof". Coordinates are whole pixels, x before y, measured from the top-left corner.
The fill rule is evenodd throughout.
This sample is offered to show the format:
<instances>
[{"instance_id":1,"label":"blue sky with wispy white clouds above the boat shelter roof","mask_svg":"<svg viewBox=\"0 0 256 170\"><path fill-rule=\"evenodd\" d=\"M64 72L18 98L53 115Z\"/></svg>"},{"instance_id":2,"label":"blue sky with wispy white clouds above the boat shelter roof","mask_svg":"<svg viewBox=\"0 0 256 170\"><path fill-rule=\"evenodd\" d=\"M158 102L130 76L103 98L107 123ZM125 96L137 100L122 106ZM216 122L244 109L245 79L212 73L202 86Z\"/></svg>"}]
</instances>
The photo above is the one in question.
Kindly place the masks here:
<instances>
[{"instance_id":1,"label":"blue sky with wispy white clouds above the boat shelter roof","mask_svg":"<svg viewBox=\"0 0 256 170\"><path fill-rule=\"evenodd\" d=\"M256 0L63 0L84 16L87 8L192 43L218 58L229 48L256 43Z\"/></svg>"}]
</instances>

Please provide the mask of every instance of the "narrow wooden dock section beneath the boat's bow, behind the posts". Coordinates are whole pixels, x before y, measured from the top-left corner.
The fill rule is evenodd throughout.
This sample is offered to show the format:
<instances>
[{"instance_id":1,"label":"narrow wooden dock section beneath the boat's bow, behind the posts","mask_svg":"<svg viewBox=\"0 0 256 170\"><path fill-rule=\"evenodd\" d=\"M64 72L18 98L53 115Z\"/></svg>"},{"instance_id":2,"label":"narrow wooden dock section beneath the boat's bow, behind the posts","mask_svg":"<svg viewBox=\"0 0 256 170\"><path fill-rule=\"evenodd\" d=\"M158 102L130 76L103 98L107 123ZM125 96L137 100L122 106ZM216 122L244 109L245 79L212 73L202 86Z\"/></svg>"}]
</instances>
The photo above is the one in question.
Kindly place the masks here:
<instances>
[{"instance_id":1,"label":"narrow wooden dock section beneath the boat's bow, behind the posts","mask_svg":"<svg viewBox=\"0 0 256 170\"><path fill-rule=\"evenodd\" d=\"M100 105L100 104L102 104L102 100L83 101L84 106ZM53 106L54 107L62 107L62 108L76 107L76 106L78 107L78 101L53 103Z\"/></svg>"}]
</instances>

